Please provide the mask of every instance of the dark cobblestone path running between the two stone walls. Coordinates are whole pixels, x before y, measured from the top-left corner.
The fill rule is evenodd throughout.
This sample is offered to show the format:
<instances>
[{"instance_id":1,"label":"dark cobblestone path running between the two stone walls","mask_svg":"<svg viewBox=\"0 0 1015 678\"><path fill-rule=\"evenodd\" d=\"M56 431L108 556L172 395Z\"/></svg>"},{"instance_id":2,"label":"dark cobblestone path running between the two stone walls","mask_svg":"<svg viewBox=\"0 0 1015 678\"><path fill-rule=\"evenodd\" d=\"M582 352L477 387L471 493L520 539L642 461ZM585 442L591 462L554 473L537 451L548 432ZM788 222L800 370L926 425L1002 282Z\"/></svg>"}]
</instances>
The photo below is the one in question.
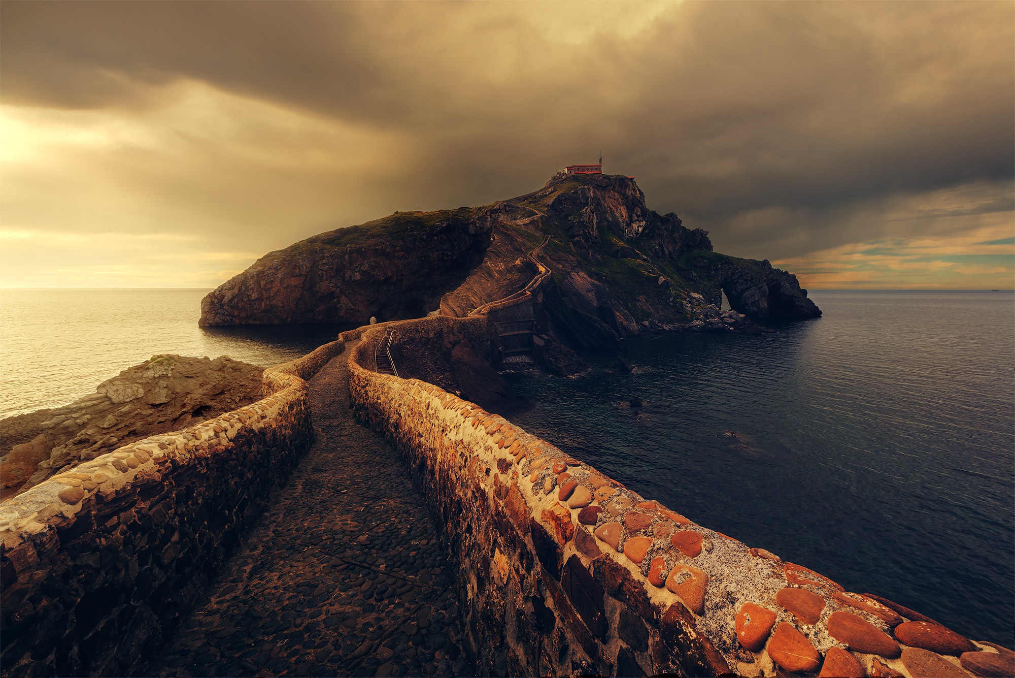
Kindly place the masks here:
<instances>
[{"instance_id":1,"label":"dark cobblestone path running between the two stone walls","mask_svg":"<svg viewBox=\"0 0 1015 678\"><path fill-rule=\"evenodd\" d=\"M469 675L454 562L401 458L311 381L316 442L153 662L162 676Z\"/></svg>"}]
</instances>

